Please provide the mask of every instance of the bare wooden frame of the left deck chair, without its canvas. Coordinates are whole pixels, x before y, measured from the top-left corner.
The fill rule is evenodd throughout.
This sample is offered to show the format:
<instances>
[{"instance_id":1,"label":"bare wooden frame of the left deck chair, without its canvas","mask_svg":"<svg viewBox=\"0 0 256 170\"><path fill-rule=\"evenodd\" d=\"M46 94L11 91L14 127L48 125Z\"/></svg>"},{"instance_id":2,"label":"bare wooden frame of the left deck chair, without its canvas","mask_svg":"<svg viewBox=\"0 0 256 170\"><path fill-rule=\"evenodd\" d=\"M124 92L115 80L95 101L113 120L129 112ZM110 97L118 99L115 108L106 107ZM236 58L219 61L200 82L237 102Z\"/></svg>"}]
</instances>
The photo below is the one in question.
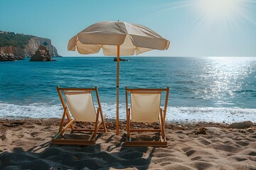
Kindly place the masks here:
<instances>
[{"instance_id":1,"label":"bare wooden frame of the left deck chair, without its canvas","mask_svg":"<svg viewBox=\"0 0 256 170\"><path fill-rule=\"evenodd\" d=\"M62 106L64 108L64 112L63 112L63 117L61 119L60 122L60 128L58 130L57 135L55 135L55 137L53 137L53 139L51 140L52 144L56 144L56 145L93 145L95 144L95 137L97 135L97 132L106 132L106 126L105 126L105 120L104 120L104 116L102 113L102 107L100 105L100 97L97 91L97 86L95 86L95 88L60 88L59 86L57 87L57 91L58 91L58 95L60 96L60 101L62 103ZM71 118L70 116L70 111L68 109L68 104L66 103L67 101L65 101L64 96L65 96L65 91L72 91L72 92L81 92L81 91L89 91L90 93L92 91L95 91L95 94L97 96L97 103L98 103L98 108L97 108L97 112L96 112L96 119L95 119L95 128L94 129L85 129L85 128L75 128L74 126L74 122L76 121L75 118ZM93 101L92 101L93 102ZM99 116L101 118L101 120L99 120ZM65 122L65 118L67 118L68 123L64 126L64 122ZM87 122L85 120L85 122ZM100 129L100 126L102 125L102 129ZM68 128L71 128L71 130L73 132L75 131L80 131L80 132L92 132L92 135L90 136L89 140L72 140L72 139L61 139L61 137L63 136L63 133L68 130Z\"/></svg>"}]
</instances>

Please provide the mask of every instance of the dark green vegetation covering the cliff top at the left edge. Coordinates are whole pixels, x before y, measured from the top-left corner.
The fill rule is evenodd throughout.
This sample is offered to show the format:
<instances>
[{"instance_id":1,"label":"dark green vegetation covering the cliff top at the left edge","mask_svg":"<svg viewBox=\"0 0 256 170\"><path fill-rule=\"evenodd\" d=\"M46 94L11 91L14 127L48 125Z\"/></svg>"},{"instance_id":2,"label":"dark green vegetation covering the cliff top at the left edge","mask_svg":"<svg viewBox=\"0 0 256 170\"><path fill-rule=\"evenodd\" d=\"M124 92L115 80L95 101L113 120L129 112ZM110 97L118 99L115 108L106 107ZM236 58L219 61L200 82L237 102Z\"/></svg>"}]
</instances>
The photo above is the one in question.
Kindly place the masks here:
<instances>
[{"instance_id":1,"label":"dark green vegetation covering the cliff top at the left edge","mask_svg":"<svg viewBox=\"0 0 256 170\"><path fill-rule=\"evenodd\" d=\"M31 38L33 38L33 35L24 35L0 30L0 47L14 46L24 48Z\"/></svg>"}]
</instances>

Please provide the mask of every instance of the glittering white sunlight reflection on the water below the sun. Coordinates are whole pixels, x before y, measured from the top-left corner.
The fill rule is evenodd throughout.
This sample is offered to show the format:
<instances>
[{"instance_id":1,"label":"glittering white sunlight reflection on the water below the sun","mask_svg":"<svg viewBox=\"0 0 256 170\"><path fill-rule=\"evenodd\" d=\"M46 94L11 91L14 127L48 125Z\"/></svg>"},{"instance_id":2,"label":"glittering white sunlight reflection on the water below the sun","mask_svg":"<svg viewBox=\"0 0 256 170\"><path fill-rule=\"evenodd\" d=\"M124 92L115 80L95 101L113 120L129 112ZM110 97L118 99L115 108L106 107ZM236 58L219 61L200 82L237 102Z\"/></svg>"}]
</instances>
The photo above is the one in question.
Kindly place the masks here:
<instances>
[{"instance_id":1,"label":"glittering white sunlight reflection on the water below the sun","mask_svg":"<svg viewBox=\"0 0 256 170\"><path fill-rule=\"evenodd\" d=\"M235 92L250 83L244 79L252 73L252 63L244 57L210 57L201 69L204 72L201 75L202 82L212 82L203 89L202 98L215 98L223 102L235 97Z\"/></svg>"}]
</instances>

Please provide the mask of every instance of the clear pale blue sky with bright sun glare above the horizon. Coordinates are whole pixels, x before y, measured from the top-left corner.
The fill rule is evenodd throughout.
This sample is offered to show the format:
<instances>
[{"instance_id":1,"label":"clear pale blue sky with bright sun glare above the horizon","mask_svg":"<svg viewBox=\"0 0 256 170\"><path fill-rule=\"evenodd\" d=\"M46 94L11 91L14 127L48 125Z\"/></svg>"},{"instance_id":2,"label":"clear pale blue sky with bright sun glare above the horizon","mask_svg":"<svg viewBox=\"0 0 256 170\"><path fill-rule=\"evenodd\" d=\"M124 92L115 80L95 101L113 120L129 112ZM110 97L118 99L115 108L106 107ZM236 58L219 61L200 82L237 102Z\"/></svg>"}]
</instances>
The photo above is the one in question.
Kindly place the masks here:
<instances>
[{"instance_id":1,"label":"clear pale blue sky with bright sun glare above the horizon","mask_svg":"<svg viewBox=\"0 0 256 170\"><path fill-rule=\"evenodd\" d=\"M168 50L139 56L256 56L256 0L0 0L0 30L50 38L62 56L103 56L68 51L68 40L118 20L171 41Z\"/></svg>"}]
</instances>

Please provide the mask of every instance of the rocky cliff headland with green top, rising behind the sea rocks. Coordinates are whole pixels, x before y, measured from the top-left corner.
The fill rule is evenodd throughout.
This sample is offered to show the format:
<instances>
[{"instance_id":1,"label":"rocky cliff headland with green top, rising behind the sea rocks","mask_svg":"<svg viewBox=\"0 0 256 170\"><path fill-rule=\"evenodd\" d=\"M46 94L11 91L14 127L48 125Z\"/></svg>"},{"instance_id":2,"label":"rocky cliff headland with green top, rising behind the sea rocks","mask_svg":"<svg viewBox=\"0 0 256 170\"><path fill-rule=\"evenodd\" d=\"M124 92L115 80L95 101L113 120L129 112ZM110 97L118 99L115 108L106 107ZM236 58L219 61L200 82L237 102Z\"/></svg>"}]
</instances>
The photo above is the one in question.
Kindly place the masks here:
<instances>
[{"instance_id":1,"label":"rocky cliff headland with green top, rising behind the sea rocks","mask_svg":"<svg viewBox=\"0 0 256 170\"><path fill-rule=\"evenodd\" d=\"M0 30L0 54L31 57L40 45L45 45L51 56L59 56L57 49L48 38L38 38L33 35L15 34Z\"/></svg>"}]
</instances>

